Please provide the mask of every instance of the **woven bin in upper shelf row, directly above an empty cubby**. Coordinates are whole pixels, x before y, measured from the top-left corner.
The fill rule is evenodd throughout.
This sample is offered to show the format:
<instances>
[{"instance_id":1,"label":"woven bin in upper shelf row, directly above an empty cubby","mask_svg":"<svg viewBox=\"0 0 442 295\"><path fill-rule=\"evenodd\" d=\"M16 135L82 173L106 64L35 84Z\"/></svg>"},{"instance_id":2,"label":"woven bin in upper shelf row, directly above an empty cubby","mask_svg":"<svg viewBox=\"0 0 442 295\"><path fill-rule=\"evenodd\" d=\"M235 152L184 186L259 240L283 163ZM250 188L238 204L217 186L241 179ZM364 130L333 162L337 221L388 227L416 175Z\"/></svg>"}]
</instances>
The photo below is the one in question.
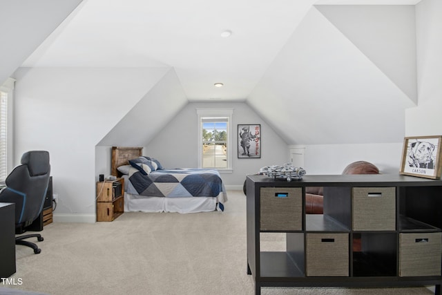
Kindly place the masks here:
<instances>
[{"instance_id":1,"label":"woven bin in upper shelf row, directly above an empty cubby","mask_svg":"<svg viewBox=\"0 0 442 295\"><path fill-rule=\"evenodd\" d=\"M354 187L353 230L396 230L396 188Z\"/></svg>"}]
</instances>

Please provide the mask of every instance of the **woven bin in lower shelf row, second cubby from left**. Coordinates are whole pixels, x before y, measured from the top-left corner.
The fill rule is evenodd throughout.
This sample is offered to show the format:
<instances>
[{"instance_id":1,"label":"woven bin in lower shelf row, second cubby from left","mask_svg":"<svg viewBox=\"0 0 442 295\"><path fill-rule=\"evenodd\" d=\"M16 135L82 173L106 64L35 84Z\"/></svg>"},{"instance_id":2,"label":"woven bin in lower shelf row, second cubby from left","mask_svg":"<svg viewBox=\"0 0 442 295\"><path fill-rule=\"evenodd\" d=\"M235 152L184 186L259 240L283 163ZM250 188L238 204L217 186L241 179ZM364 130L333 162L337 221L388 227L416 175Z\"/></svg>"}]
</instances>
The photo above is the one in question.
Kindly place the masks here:
<instances>
[{"instance_id":1,"label":"woven bin in lower shelf row, second cubby from left","mask_svg":"<svg viewBox=\"0 0 442 295\"><path fill-rule=\"evenodd\" d=\"M307 276L348 276L348 234L307 234Z\"/></svg>"}]
</instances>

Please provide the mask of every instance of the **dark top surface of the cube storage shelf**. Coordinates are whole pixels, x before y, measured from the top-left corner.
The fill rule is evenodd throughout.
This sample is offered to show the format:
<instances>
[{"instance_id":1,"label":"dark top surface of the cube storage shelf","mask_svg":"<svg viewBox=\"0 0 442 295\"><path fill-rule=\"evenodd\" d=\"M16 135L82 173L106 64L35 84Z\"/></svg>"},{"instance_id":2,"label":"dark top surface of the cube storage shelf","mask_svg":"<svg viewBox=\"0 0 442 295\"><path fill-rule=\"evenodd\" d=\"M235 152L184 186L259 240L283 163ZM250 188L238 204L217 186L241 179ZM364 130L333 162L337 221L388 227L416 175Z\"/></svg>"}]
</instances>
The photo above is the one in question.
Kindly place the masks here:
<instances>
[{"instance_id":1,"label":"dark top surface of the cube storage shelf","mask_svg":"<svg viewBox=\"0 0 442 295\"><path fill-rule=\"evenodd\" d=\"M304 175L301 180L287 181L283 178L272 178L266 175L247 175L262 187L420 187L442 186L442 180L432 180L401 174L355 174L355 175Z\"/></svg>"}]
</instances>

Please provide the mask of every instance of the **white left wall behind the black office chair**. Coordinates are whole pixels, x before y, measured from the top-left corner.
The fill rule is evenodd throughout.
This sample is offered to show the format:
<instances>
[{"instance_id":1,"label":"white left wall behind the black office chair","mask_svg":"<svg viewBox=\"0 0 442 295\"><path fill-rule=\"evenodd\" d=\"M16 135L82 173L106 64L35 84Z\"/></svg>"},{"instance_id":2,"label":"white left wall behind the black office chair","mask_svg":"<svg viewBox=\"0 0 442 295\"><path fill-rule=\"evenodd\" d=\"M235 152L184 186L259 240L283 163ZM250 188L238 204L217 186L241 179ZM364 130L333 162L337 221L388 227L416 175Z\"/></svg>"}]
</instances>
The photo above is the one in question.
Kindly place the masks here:
<instances>
[{"instance_id":1,"label":"white left wall behind the black office chair","mask_svg":"<svg viewBox=\"0 0 442 295\"><path fill-rule=\"evenodd\" d=\"M167 68L20 68L15 155L50 152L55 220L95 222L95 145ZM110 158L109 158L110 160ZM98 171L102 173L102 171Z\"/></svg>"}]
</instances>

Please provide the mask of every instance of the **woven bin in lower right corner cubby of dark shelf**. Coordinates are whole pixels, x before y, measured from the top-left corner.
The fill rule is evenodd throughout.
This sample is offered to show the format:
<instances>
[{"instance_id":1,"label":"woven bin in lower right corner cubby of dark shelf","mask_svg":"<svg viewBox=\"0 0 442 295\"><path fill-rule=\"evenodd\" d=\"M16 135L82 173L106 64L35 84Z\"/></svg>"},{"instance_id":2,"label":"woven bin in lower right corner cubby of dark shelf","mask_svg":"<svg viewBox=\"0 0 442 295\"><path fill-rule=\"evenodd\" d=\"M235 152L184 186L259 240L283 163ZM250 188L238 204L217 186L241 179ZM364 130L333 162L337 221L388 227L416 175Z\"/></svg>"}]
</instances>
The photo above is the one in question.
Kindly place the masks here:
<instances>
[{"instance_id":1,"label":"woven bin in lower right corner cubby of dark shelf","mask_svg":"<svg viewBox=\"0 0 442 295\"><path fill-rule=\"evenodd\" d=\"M441 233L399 234L399 276L441 275Z\"/></svg>"}]
</instances>

